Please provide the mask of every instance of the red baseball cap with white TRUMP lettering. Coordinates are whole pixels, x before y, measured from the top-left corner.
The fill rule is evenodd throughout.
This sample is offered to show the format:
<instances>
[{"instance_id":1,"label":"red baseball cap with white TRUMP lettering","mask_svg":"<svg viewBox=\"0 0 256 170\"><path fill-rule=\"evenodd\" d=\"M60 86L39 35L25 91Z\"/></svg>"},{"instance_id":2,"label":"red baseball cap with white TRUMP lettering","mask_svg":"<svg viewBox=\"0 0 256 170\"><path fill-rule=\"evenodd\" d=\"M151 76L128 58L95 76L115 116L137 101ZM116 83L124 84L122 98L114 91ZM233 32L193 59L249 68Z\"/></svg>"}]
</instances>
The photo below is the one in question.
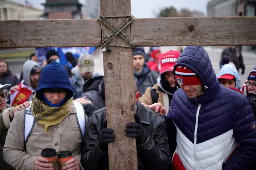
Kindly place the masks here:
<instances>
[{"instance_id":1,"label":"red baseball cap with white TRUMP lettering","mask_svg":"<svg viewBox=\"0 0 256 170\"><path fill-rule=\"evenodd\" d=\"M160 74L166 71L173 71L175 62L177 61L179 55L180 52L172 50L164 53L159 59L161 65Z\"/></svg>"}]
</instances>

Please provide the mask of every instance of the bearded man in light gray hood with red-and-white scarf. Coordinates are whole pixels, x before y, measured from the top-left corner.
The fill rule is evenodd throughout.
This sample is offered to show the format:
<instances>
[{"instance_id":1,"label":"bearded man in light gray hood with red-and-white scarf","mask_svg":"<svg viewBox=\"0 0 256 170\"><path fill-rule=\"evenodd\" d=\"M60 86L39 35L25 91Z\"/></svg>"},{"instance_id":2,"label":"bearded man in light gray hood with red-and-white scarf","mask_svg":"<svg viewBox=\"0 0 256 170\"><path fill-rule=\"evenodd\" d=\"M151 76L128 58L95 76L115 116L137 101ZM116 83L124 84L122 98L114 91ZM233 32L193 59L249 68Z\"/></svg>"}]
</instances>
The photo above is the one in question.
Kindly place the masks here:
<instances>
[{"instance_id":1,"label":"bearded man in light gray hood with red-and-white scarf","mask_svg":"<svg viewBox=\"0 0 256 170\"><path fill-rule=\"evenodd\" d=\"M11 91L10 104L18 106L25 101L31 101L37 88L41 67L33 60L27 60L23 65L23 80L19 83L19 90Z\"/></svg>"}]
</instances>

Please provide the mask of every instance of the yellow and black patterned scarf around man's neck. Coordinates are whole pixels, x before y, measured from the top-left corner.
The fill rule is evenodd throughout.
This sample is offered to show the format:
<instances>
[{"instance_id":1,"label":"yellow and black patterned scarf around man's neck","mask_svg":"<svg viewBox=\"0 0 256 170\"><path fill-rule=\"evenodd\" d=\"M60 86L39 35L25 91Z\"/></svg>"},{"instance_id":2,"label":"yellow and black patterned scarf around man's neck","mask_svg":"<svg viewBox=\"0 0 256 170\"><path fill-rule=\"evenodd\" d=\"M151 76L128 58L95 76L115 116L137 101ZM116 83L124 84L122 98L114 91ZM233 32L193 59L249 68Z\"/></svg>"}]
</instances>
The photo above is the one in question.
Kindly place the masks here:
<instances>
[{"instance_id":1,"label":"yellow and black patterned scarf around man's neck","mask_svg":"<svg viewBox=\"0 0 256 170\"><path fill-rule=\"evenodd\" d=\"M60 123L66 116L69 115L72 99L69 99L60 107L50 107L46 102L40 101L36 94L33 96L31 103L31 111L47 135L49 135L49 126Z\"/></svg>"}]
</instances>

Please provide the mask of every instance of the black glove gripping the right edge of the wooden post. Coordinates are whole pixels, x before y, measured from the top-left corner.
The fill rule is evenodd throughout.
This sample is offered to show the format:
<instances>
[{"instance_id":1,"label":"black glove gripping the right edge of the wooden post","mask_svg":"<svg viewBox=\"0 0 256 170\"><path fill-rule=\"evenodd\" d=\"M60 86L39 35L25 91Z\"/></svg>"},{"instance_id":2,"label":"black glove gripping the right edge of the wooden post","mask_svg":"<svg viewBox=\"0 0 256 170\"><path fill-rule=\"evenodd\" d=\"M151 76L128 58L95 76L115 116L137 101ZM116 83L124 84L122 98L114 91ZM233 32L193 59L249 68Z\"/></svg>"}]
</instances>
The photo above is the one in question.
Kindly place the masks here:
<instances>
[{"instance_id":1,"label":"black glove gripping the right edge of the wooden post","mask_svg":"<svg viewBox=\"0 0 256 170\"><path fill-rule=\"evenodd\" d=\"M134 114L135 122L130 122L126 124L125 136L127 137L135 137L137 144L143 144L147 139L147 132L144 129L144 126L141 123L141 119L139 119L139 115L137 113Z\"/></svg>"}]
</instances>

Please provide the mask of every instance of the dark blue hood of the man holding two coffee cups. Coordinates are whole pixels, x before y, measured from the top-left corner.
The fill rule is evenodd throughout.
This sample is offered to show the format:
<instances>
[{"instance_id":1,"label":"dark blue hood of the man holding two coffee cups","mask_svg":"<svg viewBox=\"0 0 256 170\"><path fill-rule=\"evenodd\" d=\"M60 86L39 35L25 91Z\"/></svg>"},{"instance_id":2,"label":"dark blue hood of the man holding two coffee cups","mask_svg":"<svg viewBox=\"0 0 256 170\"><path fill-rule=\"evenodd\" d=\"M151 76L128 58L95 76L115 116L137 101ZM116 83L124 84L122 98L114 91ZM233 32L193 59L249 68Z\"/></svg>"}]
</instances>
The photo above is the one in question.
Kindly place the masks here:
<instances>
[{"instance_id":1,"label":"dark blue hood of the man holding two coffee cups","mask_svg":"<svg viewBox=\"0 0 256 170\"><path fill-rule=\"evenodd\" d=\"M45 88L63 88L67 89L66 100L72 98L73 91L66 68L57 62L52 62L42 69L42 73L37 85L36 96L44 101L41 90Z\"/></svg>"}]
</instances>

